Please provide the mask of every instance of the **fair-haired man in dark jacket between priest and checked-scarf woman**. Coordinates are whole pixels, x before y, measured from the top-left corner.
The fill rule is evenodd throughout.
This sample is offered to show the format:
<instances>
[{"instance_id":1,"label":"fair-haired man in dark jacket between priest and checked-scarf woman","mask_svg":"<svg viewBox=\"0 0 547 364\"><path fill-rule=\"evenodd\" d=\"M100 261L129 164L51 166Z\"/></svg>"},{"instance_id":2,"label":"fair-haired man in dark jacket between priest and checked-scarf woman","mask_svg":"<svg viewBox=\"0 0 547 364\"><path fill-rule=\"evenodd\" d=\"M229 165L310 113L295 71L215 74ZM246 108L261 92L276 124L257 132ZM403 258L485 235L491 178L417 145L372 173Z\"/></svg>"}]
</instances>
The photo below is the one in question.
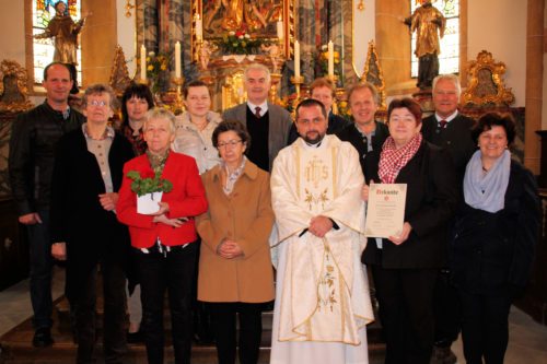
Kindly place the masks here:
<instances>
[{"instance_id":1,"label":"fair-haired man in dark jacket between priest and checked-scarf woman","mask_svg":"<svg viewBox=\"0 0 547 364\"><path fill-rule=\"evenodd\" d=\"M364 174L366 155L380 153L389 130L382 121L374 120L380 104L380 95L372 83L358 83L348 90L348 102L353 122L336 132L341 141L348 141L359 153L359 162Z\"/></svg>"}]
</instances>

